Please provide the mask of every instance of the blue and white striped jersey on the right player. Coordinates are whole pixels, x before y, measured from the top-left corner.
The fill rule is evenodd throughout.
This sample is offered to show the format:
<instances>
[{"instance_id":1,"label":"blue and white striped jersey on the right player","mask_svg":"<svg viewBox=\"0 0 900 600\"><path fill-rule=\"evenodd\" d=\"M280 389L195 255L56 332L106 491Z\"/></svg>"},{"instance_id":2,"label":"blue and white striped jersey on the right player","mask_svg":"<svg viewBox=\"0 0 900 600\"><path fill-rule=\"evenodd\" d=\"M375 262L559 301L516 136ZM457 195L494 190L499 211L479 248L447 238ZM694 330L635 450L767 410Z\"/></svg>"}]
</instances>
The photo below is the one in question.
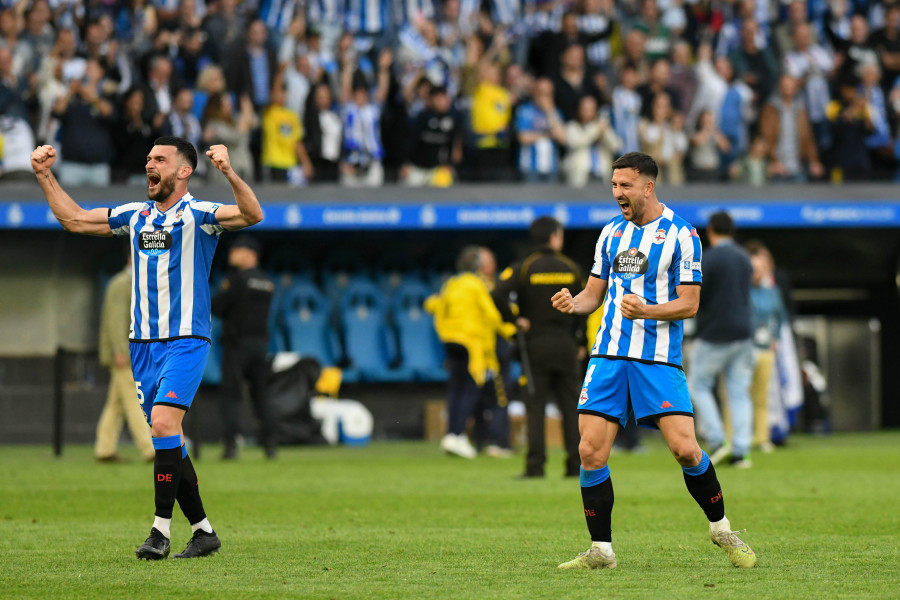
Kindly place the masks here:
<instances>
[{"instance_id":1,"label":"blue and white striped jersey on the right player","mask_svg":"<svg viewBox=\"0 0 900 600\"><path fill-rule=\"evenodd\" d=\"M591 356L621 357L681 367L683 321L632 321L622 316L622 298L635 294L647 304L678 297L679 285L700 285L701 246L697 230L665 205L643 227L621 215L597 240L591 276L609 281L603 321Z\"/></svg>"}]
</instances>

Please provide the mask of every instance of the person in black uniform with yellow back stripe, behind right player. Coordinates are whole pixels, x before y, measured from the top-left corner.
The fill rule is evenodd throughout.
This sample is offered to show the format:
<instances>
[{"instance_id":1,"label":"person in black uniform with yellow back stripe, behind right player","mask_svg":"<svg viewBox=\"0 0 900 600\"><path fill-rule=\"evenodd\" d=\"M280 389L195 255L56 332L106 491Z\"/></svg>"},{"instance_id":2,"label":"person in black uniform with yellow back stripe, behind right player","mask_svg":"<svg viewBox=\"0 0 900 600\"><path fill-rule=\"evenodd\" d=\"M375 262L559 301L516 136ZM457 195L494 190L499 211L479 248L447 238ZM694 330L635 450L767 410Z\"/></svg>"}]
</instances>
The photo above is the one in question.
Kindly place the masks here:
<instances>
[{"instance_id":1,"label":"person in black uniform with yellow back stripe, behind right player","mask_svg":"<svg viewBox=\"0 0 900 600\"><path fill-rule=\"evenodd\" d=\"M585 319L554 310L550 298L560 286L580 292L584 280L578 266L561 252L563 227L559 221L553 217L539 217L531 224L529 236L538 249L504 270L494 290L494 301L504 319L515 321L522 332L519 335L520 357L525 375L531 378L525 394L528 455L522 477L544 476L547 458L544 412L548 402L554 402L562 413L565 474L576 477L581 466L578 455L577 408L581 384L578 361L585 353L581 343ZM516 305L518 316L513 314L512 307Z\"/></svg>"}]
</instances>

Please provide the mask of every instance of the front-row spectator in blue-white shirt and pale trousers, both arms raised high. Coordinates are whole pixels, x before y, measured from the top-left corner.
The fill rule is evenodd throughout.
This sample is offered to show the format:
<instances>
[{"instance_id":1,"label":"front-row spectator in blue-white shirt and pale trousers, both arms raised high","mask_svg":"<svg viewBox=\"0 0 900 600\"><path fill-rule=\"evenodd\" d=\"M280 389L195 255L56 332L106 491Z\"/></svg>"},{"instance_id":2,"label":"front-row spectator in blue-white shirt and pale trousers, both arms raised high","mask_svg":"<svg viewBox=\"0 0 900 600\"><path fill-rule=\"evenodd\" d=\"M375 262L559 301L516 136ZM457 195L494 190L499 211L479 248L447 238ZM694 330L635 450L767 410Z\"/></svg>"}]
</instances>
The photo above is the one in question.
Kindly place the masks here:
<instances>
[{"instance_id":1,"label":"front-row spectator in blue-white shirt and pale trousers, both arms raised high","mask_svg":"<svg viewBox=\"0 0 900 600\"><path fill-rule=\"evenodd\" d=\"M344 144L341 156L341 185L378 187L384 183L384 146L381 141L381 111L390 86L393 55L385 50L379 57L378 85L370 99L365 79L345 68L341 82L341 121Z\"/></svg>"}]
</instances>

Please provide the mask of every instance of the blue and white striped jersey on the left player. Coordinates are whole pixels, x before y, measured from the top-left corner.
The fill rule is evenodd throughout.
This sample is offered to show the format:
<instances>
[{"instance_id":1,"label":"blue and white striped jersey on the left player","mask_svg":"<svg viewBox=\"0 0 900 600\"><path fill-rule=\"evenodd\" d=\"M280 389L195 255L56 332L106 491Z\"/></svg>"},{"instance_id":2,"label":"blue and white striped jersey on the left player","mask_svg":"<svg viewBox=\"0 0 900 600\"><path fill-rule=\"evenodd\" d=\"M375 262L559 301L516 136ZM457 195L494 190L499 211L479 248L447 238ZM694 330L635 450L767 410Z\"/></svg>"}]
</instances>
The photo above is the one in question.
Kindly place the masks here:
<instances>
[{"instance_id":1,"label":"blue and white striped jersey on the left player","mask_svg":"<svg viewBox=\"0 0 900 600\"><path fill-rule=\"evenodd\" d=\"M109 211L113 235L131 236L131 340L210 339L209 270L219 204L190 194L164 213L133 202Z\"/></svg>"}]
</instances>

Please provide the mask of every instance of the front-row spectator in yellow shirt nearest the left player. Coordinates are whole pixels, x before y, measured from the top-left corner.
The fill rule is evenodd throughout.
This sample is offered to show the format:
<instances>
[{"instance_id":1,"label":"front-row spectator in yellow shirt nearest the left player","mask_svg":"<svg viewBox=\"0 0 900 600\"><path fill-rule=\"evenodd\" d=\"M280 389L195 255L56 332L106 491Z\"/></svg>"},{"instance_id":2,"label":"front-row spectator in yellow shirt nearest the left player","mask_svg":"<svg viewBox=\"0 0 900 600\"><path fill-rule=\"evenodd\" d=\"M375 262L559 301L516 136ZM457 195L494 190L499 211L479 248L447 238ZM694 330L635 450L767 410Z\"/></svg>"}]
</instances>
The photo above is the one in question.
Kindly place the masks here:
<instances>
[{"instance_id":1,"label":"front-row spectator in yellow shirt nearest the left player","mask_svg":"<svg viewBox=\"0 0 900 600\"><path fill-rule=\"evenodd\" d=\"M262 116L263 179L292 186L303 185L313 176L313 165L303 145L300 117L285 106L280 77L269 95L271 102Z\"/></svg>"}]
</instances>

